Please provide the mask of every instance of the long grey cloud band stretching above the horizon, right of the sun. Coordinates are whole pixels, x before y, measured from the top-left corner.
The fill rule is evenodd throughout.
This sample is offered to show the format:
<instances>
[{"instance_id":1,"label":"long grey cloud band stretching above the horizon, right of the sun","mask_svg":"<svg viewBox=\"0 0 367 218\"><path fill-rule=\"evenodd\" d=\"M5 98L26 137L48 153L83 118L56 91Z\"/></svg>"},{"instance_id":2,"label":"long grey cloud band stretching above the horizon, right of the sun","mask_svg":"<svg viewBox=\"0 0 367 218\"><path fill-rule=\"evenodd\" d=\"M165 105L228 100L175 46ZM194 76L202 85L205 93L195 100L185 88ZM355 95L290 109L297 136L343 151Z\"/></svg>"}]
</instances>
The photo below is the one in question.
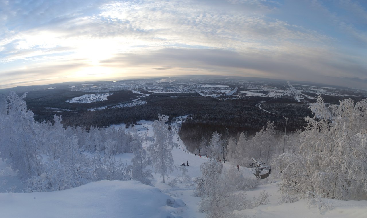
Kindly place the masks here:
<instances>
[{"instance_id":1,"label":"long grey cloud band stretching above the horizon, right of the sun","mask_svg":"<svg viewBox=\"0 0 367 218\"><path fill-rule=\"evenodd\" d=\"M298 47L288 53L252 50L236 52L221 49L160 49L144 54L119 54L101 61L106 67L125 68L170 63L172 73L182 69L214 74L256 76L321 82L320 75L346 77L349 71L367 78L367 68L324 49ZM153 68L157 69L157 68ZM161 69L161 68L159 68ZM323 82L327 83L327 79Z\"/></svg>"}]
</instances>

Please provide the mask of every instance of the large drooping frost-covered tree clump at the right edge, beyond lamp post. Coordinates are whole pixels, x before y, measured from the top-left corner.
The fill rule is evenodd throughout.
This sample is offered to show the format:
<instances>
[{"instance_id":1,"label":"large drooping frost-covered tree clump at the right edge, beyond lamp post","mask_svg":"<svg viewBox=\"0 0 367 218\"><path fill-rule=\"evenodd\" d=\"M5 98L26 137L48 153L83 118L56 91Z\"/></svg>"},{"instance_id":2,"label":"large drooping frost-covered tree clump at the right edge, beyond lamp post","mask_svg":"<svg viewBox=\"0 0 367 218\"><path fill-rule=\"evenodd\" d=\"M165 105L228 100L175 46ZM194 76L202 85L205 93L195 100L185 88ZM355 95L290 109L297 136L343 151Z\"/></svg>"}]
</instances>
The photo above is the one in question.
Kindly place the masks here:
<instances>
[{"instance_id":1,"label":"large drooping frost-covered tree clump at the right edge, beyond lamp post","mask_svg":"<svg viewBox=\"0 0 367 218\"><path fill-rule=\"evenodd\" d=\"M310 106L320 113L306 118L299 152L275 159L281 190L287 194L311 191L341 200L367 199L367 99L356 104L345 99L331 106L330 114L324 107L322 98Z\"/></svg>"}]
</instances>

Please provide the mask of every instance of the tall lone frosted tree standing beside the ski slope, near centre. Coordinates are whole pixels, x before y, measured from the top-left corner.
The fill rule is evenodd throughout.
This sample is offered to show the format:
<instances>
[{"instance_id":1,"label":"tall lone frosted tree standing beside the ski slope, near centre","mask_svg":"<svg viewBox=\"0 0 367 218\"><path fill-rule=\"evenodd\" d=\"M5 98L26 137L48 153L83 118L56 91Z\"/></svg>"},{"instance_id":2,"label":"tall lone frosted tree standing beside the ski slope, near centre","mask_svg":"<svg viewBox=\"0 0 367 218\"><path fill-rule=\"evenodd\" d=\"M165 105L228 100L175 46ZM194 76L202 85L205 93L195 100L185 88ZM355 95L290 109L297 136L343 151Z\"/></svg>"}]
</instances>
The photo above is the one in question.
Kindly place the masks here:
<instances>
[{"instance_id":1,"label":"tall lone frosted tree standing beside the ski slope, near centre","mask_svg":"<svg viewBox=\"0 0 367 218\"><path fill-rule=\"evenodd\" d=\"M164 177L168 172L173 172L172 149L178 147L178 144L172 141L173 133L170 125L167 124L168 116L158 114L158 119L152 124L155 143L148 147L148 151L155 166L155 173L160 173L165 183Z\"/></svg>"}]
</instances>

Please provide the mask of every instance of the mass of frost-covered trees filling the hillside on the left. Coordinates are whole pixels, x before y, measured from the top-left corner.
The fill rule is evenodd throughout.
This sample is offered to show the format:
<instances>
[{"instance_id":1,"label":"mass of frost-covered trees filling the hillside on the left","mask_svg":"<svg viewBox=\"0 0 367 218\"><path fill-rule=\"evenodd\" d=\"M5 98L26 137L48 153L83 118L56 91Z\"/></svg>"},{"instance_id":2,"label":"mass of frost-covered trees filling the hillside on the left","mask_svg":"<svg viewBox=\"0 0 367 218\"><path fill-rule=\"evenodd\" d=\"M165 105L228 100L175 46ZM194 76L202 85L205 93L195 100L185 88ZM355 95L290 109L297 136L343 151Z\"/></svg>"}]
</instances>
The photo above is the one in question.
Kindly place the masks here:
<instances>
[{"instance_id":1,"label":"mass of frost-covered trees filling the hillside on the left","mask_svg":"<svg viewBox=\"0 0 367 218\"><path fill-rule=\"evenodd\" d=\"M24 96L0 96L0 158L17 172L26 191L55 191L103 179L128 180L127 163L115 154L130 153L133 137L124 128L64 128L35 122ZM88 151L90 155L83 152Z\"/></svg>"}]
</instances>

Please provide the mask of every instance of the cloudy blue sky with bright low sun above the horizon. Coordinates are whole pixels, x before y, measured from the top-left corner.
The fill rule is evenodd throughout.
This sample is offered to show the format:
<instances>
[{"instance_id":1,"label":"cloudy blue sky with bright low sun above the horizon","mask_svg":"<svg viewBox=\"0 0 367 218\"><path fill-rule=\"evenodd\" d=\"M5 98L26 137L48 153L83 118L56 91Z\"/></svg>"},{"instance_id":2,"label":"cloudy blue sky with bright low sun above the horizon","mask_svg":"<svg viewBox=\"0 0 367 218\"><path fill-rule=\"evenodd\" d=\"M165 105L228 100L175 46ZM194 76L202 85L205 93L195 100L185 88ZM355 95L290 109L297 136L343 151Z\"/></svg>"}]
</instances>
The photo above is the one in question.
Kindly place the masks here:
<instances>
[{"instance_id":1,"label":"cloudy blue sky with bright low sun above the horizon","mask_svg":"<svg viewBox=\"0 0 367 218\"><path fill-rule=\"evenodd\" d=\"M0 89L175 75L367 89L367 1L0 0Z\"/></svg>"}]
</instances>

